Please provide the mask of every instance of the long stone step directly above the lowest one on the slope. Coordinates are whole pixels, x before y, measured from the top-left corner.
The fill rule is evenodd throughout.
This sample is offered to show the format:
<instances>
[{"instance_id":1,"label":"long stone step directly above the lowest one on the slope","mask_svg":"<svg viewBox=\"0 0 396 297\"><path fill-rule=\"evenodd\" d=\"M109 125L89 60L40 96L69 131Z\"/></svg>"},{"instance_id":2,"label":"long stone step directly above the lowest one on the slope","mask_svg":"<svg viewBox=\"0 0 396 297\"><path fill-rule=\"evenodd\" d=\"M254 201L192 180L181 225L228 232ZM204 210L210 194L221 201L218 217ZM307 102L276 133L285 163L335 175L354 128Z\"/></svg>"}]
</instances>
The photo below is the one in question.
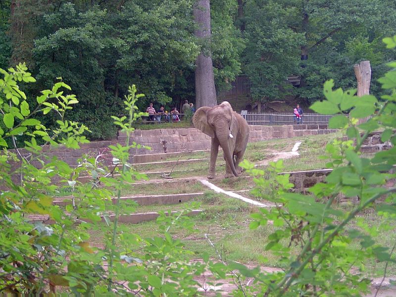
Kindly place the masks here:
<instances>
[{"instance_id":1,"label":"long stone step directly above the lowest one on the slope","mask_svg":"<svg viewBox=\"0 0 396 297\"><path fill-rule=\"evenodd\" d=\"M151 205L151 204L178 204L182 202L190 201L193 198L198 198L203 196L202 192L198 193L184 193L184 194L167 194L167 195L146 195L146 196L127 196L121 197L121 200L134 200L139 205ZM52 201L55 205L67 205L71 204L71 196L65 197L54 197ZM115 203L116 198L112 198L112 202Z\"/></svg>"}]
</instances>

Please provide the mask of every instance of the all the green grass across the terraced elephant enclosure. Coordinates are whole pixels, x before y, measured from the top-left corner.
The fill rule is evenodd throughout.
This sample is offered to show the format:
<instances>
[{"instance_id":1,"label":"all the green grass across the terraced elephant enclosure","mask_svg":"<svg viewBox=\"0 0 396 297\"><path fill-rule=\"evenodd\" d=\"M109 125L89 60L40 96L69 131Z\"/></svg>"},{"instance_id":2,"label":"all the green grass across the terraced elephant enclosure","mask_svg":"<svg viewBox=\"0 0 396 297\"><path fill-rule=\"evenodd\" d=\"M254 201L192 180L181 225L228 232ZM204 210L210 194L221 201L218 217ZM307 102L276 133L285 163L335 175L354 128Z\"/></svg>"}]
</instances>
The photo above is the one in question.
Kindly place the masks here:
<instances>
[{"instance_id":1,"label":"all the green grass across the terraced elephant enclosure","mask_svg":"<svg viewBox=\"0 0 396 297\"><path fill-rule=\"evenodd\" d=\"M339 137L339 134L328 134L304 137L301 146L299 147L300 155L286 159L284 161L284 171L300 171L309 169L320 169L325 167L325 160L320 160L319 155L325 154L326 144ZM274 151L290 151L294 144L301 140L301 138L292 138L284 140L271 140L259 143L251 143L248 145L246 158L251 161L259 161L271 157L270 152ZM207 156L208 152L198 152L189 154L189 158L201 158ZM183 156L184 158L185 156ZM171 157L169 159L177 159L178 157ZM198 177L206 176L208 170L208 161L202 161L191 164L180 164L175 166L175 170L187 170L187 172L174 172L173 178L178 177ZM151 168L155 171L169 171L172 166L161 167L159 166L141 166L140 171L148 170ZM249 190L254 186L251 178L222 178L225 173L225 164L221 158L217 161L216 166L217 178L211 180L213 184L225 190ZM150 174L149 178L158 178L158 174ZM208 235L219 252L223 253L227 260L235 260L243 263L261 264L264 266L280 267L279 257L273 255L270 251L265 250L268 243L268 236L277 228L272 225L260 226L256 230L248 228L251 222L250 214L257 211L256 208L250 207L247 203L225 197L220 194L215 194L212 191L205 191L200 183L192 180L184 180L174 182L172 180L165 183L158 183L154 185L131 185L123 190L123 196L146 194L155 195L158 193L173 194L173 193L192 193L192 192L205 192L204 196L195 199L200 202L200 208L204 211L197 216L191 217L194 222L195 232L190 232L179 227L171 229L171 235L174 238L180 239L185 245L186 249L192 251L189 259L200 258L204 252L207 252L211 257L217 258L217 252L209 244L205 238ZM252 198L255 200L263 200L256 198L250 192L241 193L242 196ZM149 206L134 206L135 212L141 211L159 211L159 210L181 210L191 202L180 203L176 205L149 205ZM128 202L123 202L125 210L128 209ZM344 210L350 209L351 206L335 205L336 208L343 208ZM348 208L349 207L349 208ZM123 207L124 208L124 207ZM380 230L382 221L375 212L369 210L360 214L365 221L369 222L370 226ZM395 226L396 227L396 226ZM356 222L353 221L348 225L348 228L359 228ZM121 224L120 232L135 233L143 238L153 237L160 234L159 227L155 222L145 222L136 225ZM99 223L93 230L90 230L92 236L92 245L101 247L103 238L110 234L110 228L104 223ZM396 241L396 232L391 230L388 232L378 232L376 241L380 245L392 247ZM288 246L289 241L284 240L282 244ZM352 242L352 246L359 248L359 240ZM139 247L136 247L139 249ZM291 252L296 253L297 249L292 245ZM138 252L139 253L139 252ZM264 260L265 259L265 260ZM384 271L385 263L377 262L373 259L367 259L363 263L366 267L364 272L368 277L379 277ZM357 265L358 266L358 265ZM281 267L282 268L282 267ZM388 266L388 274L396 275L396 264L390 263Z\"/></svg>"}]
</instances>

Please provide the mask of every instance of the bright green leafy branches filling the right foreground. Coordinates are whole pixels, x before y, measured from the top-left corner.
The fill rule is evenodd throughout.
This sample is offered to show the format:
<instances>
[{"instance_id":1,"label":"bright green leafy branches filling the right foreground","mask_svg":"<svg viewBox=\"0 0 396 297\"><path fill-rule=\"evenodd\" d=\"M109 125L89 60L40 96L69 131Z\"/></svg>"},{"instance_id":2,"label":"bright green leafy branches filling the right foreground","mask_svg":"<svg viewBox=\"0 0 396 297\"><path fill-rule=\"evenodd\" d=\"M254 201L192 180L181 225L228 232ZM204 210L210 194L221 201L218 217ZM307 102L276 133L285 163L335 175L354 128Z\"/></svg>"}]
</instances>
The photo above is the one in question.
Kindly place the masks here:
<instances>
[{"instance_id":1,"label":"bright green leafy branches filling the right foreground","mask_svg":"<svg viewBox=\"0 0 396 297\"><path fill-rule=\"evenodd\" d=\"M257 229L273 222L277 229L269 235L266 249L279 256L280 266L288 267L284 272L271 274L237 268L241 275L253 275L255 279L255 285L243 288L244 296L254 296L258 291L264 296L362 295L370 288L363 263L367 259L396 261L393 254L396 245L390 249L376 242L379 232L389 232L395 224L396 188L386 186L388 179L396 177L395 147L371 156L363 156L360 151L374 130L383 130L382 140L396 144L394 72L395 69L380 79L383 88L392 94L381 99L355 97L355 90L333 90L333 81L324 84L325 99L310 108L321 114L336 114L329 125L342 129L346 138L327 144L327 155L323 158L333 171L323 183L310 187L310 194L291 191L289 175L277 174L283 169L282 160L271 162L265 171L255 169L249 162L242 164L254 176L254 195L276 204L252 214L249 227ZM367 116L370 118L366 121L358 121ZM355 197L358 203L340 208L335 203L340 195ZM375 205L379 198L382 202ZM379 229L359 218L360 213L372 207L383 217ZM356 224L352 225L353 221ZM297 252L292 252L291 246Z\"/></svg>"}]
</instances>

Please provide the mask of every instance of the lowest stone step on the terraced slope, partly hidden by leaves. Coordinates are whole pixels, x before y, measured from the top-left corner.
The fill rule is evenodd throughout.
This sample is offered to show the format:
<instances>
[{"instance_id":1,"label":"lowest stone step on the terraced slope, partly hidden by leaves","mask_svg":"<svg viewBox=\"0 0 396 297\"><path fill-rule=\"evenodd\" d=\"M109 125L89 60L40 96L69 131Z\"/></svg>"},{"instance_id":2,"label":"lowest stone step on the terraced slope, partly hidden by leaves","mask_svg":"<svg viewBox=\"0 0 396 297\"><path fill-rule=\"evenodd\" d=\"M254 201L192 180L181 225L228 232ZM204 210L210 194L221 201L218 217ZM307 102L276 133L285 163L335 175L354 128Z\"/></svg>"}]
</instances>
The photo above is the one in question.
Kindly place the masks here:
<instances>
[{"instance_id":1,"label":"lowest stone step on the terraced slope, partly hidden by leaves","mask_svg":"<svg viewBox=\"0 0 396 297\"><path fill-rule=\"evenodd\" d=\"M194 216L199 213L201 213L203 210L202 209L193 209L191 212L189 212L187 215L189 216ZM169 215L169 213L174 214L178 213L179 211L167 211L165 212L166 215ZM159 216L159 213L157 212L141 212L141 213L130 213L130 214L123 214L120 215L118 222L120 223L127 223L127 224L139 224L142 222L147 222L147 221L153 221ZM115 215L114 214L109 214L106 216L110 221L114 220ZM27 216L27 219L34 223L34 222L42 222L44 224L54 224L55 221L52 220L49 215L30 215ZM88 220L78 220L78 223L81 222L87 222ZM104 216L101 216L101 221L105 222Z\"/></svg>"}]
</instances>

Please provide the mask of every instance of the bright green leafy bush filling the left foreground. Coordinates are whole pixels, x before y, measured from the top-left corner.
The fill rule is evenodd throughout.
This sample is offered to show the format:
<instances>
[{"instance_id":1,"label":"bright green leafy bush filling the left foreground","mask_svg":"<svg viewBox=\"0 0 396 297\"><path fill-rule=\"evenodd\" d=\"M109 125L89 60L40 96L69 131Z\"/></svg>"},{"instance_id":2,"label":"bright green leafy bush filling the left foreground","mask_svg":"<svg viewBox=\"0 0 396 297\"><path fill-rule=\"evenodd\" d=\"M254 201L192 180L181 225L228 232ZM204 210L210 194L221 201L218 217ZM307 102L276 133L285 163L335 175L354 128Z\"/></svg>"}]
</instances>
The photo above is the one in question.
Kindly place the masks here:
<instances>
[{"instance_id":1,"label":"bright green leafy bush filling the left foreground","mask_svg":"<svg viewBox=\"0 0 396 297\"><path fill-rule=\"evenodd\" d=\"M136 106L143 95L136 94L134 85L128 88L123 101L127 116L112 117L127 135L125 146L109 147L114 169L102 166L100 155L82 158L72 168L56 157L48 157L38 142L69 149L87 143L83 134L88 128L65 119L66 111L79 101L74 95L64 95L70 87L57 82L36 98L37 107L31 107L17 84L35 82L26 70L24 64L8 71L0 69L4 124L0 129L0 292L43 295L48 288L52 291L64 286L73 295L111 295L115 291L150 296L194 295L193 277L202 273L205 265L185 260L189 251L169 234L170 228L193 228L190 218L184 215L191 209L169 216L161 213L161 234L152 238L131 234L118 224L121 215L131 212L131 207L121 207L121 190L146 178L129 163L130 148L141 148L130 143L130 133L134 130L132 123L146 115ZM50 113L57 118L54 129L36 118ZM23 137L28 140L22 151L16 148L16 140ZM7 141L13 150L6 149ZM79 177L87 175L90 180L82 183ZM99 187L99 183L109 187ZM68 189L71 194L71 201L64 207L52 203L50 193L56 189ZM42 217L35 221L37 216ZM95 228L100 220L112 232L102 247L91 247L87 230ZM44 225L41 221L52 223Z\"/></svg>"}]
</instances>

